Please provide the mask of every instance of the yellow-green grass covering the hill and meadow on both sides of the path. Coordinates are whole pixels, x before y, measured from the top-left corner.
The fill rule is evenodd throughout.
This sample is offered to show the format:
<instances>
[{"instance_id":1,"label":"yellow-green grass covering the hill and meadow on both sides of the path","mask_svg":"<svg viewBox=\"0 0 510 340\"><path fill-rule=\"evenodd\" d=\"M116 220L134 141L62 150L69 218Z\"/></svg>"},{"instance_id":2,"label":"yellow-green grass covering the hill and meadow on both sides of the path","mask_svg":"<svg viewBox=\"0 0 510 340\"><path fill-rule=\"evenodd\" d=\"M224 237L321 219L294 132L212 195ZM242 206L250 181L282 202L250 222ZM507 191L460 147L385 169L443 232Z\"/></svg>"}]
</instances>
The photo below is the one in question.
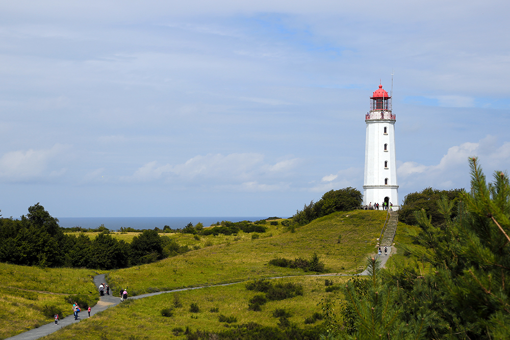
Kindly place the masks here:
<instances>
[{"instance_id":1,"label":"yellow-green grass covering the hill and meadow on both sides of the path","mask_svg":"<svg viewBox=\"0 0 510 340\"><path fill-rule=\"evenodd\" d=\"M281 301L269 301L262 306L261 311L248 310L249 300L260 293L248 291L245 283L163 294L127 301L127 303L102 312L90 320L66 327L48 338L79 336L84 339L182 339L185 337L186 327L193 331L200 329L216 333L225 330L241 331L243 328L239 327L240 325L250 325L250 323L257 323L260 327L288 329L282 325L282 322L290 322L292 327L313 332L314 327L320 324L319 321L311 323L314 313L320 312L317 304L321 299L339 292L338 290L326 292L325 279L327 278L339 286L349 277L304 276L314 273L304 272L301 269L271 266L268 265L269 260L281 257L309 259L314 253L317 253L329 273L354 274L360 272L367 255L375 252L376 238L379 237L385 218L386 213L382 211L339 212L296 228L295 232L287 230L282 225L277 225L270 226L266 233L260 233L258 236L240 232L236 236L220 235L215 237L211 235L200 237L197 240L189 234L170 234L169 237L175 238L179 244L194 247L196 250L157 263L110 272L108 281L114 293L121 287L128 287L131 295L136 295L183 287L285 277L271 280L271 282L301 285L303 294ZM400 229L402 229L401 224L399 224L399 231ZM18 268L27 271L34 277L40 277L38 281L35 280L38 283L30 285L30 289L33 290L59 293L65 291L65 294L71 292L97 294L91 283L92 271L83 271L81 275L85 275L86 279L83 279L83 276L78 278L78 272L70 273L69 276L65 276L65 279L62 276L64 281L69 282L69 286L63 289L63 287L48 283L52 279L45 277L44 273L55 271L55 275L58 276L72 270L41 270L31 267L2 266L7 266L0 267L0 277L6 277L0 285L1 299L4 305L9 304L10 296L7 295L7 287L12 286L11 282L16 281L14 278L11 279L11 276L17 275L15 273L18 272ZM73 275L77 277L73 278ZM78 282L80 285L76 284ZM21 283L19 285L20 288L29 289L21 286ZM78 286L87 288L85 290L80 288L79 292ZM39 305L44 304L43 300L39 299L42 297L38 295L34 301L39 301L36 302ZM62 297L60 299L64 300ZM199 308L198 312L190 311L192 303ZM20 316L17 315L14 305L8 307L10 309L6 308L6 310L11 310L11 314L1 315L2 322L5 319L12 319L14 315L17 320L23 319L23 322L18 328L16 328L16 324L9 326L10 330L4 331L0 335L2 338L51 321L42 316L39 318L34 315ZM172 310L171 317L162 316L161 311L164 308ZM285 309L289 313L288 318L284 318L282 321L278 317L274 317L273 312L276 309ZM309 318L307 323L305 323L306 318ZM231 322L225 322L225 320ZM4 327L1 328L4 329ZM130 334L129 337L126 334Z\"/></svg>"}]
</instances>

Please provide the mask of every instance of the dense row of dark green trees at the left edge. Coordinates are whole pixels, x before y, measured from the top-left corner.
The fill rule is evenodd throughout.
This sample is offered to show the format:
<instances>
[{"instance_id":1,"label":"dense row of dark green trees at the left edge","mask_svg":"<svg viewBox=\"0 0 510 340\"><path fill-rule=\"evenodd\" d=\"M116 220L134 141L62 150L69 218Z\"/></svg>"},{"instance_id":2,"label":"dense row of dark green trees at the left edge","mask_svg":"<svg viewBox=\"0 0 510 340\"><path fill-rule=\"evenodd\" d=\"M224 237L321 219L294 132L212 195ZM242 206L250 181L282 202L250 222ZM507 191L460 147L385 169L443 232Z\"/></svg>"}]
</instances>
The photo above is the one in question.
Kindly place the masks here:
<instances>
[{"instance_id":1,"label":"dense row of dark green trees at the left edge","mask_svg":"<svg viewBox=\"0 0 510 340\"><path fill-rule=\"evenodd\" d=\"M175 240L144 230L131 243L104 228L93 240L84 232L65 234L39 203L20 219L0 218L0 261L39 267L115 269L151 263L190 250Z\"/></svg>"}]
</instances>

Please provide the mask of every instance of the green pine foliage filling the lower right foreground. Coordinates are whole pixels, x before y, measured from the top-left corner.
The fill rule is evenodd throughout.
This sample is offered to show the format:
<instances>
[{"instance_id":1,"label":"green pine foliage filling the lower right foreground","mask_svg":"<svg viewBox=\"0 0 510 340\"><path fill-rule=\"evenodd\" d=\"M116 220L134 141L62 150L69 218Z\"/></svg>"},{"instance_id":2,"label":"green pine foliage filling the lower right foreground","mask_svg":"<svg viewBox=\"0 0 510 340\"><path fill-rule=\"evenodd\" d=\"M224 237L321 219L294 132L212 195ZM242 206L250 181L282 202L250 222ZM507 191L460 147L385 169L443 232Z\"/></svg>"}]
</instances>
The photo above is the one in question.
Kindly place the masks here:
<instances>
[{"instance_id":1,"label":"green pine foliage filling the lower right foreground","mask_svg":"<svg viewBox=\"0 0 510 340\"><path fill-rule=\"evenodd\" d=\"M487 183L476 158L470 166L470 192L434 199L441 219L424 207L414 213L415 242L425 249L415 255L430 273L380 270L370 259L366 285L345 287L341 325L323 304L322 338L510 338L510 182L497 171Z\"/></svg>"}]
</instances>

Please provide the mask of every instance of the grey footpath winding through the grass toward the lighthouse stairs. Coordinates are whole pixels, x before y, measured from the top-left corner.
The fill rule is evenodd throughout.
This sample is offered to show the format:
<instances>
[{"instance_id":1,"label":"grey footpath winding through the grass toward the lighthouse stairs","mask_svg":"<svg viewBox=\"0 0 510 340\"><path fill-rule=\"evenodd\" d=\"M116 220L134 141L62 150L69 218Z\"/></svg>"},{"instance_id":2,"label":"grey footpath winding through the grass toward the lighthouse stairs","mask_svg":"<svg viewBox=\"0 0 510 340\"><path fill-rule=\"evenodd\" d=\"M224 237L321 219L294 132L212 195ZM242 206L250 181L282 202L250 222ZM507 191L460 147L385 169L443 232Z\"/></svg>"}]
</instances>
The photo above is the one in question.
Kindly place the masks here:
<instances>
[{"instance_id":1,"label":"grey footpath winding through the grass toward the lighthouse stairs","mask_svg":"<svg viewBox=\"0 0 510 340\"><path fill-rule=\"evenodd\" d=\"M388 261L388 258L390 257L391 252L392 252L392 247L388 247L388 255L384 255L384 254L380 255L380 256L375 255L380 260L381 267L384 267L386 265L386 261ZM368 275L368 270L364 270L363 272L361 272L358 275ZM298 275L298 276L351 276L351 275L347 275L347 274L317 274L317 275ZM292 276L269 277L269 279L277 279L277 278L284 278L284 277L292 277ZM106 282L105 274L100 274L100 275L94 276L94 285L96 287L98 287L103 282ZM142 299L142 298L146 298L149 296L155 296L155 295L160 295L160 294L191 291L191 290L202 289L202 288L206 288L206 287L225 286L225 285L231 285L231 284L237 284L237 283L242 283L242 282L215 284L215 285L209 285L209 286L175 289L175 290L165 291L165 292L147 293L147 294L129 297L128 299L137 300L137 299ZM120 303L120 297L118 297L118 296L114 296L114 295L101 296L99 298L99 301L97 302L97 304L91 308L90 317L93 317L95 315L95 313L106 310L109 307L114 307L114 306L118 305L119 303ZM87 306L81 306L81 307L82 307L82 311L78 314L78 320L74 320L74 316L71 314L71 315L65 317L64 319L59 320L58 325L55 325L54 322L51 322L49 324L42 325L41 327L37 327L37 328L31 329L29 331L20 333L18 335L8 337L5 340L35 340L40 337L49 335L53 332L56 332L59 329L61 329L62 327L78 323L78 322L88 318Z\"/></svg>"}]
</instances>

